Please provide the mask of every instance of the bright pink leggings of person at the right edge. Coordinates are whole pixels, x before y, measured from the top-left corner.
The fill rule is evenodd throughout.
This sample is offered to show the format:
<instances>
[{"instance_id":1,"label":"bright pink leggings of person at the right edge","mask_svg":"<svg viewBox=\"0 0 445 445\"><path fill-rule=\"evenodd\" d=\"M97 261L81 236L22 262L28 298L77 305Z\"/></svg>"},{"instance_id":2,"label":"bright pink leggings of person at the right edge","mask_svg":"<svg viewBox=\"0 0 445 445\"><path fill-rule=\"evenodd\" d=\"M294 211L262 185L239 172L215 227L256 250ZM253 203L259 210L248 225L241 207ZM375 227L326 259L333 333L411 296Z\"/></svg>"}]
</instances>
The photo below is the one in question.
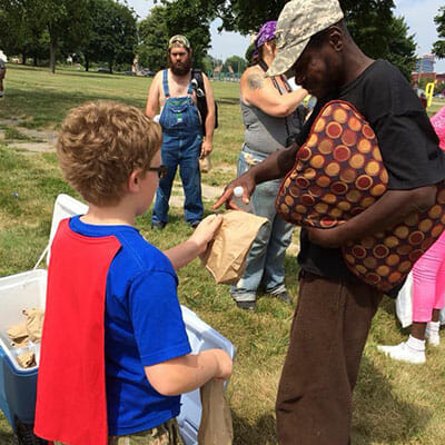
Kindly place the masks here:
<instances>
[{"instance_id":1,"label":"bright pink leggings of person at the right edge","mask_svg":"<svg viewBox=\"0 0 445 445\"><path fill-rule=\"evenodd\" d=\"M413 267L413 322L428 323L445 306L445 231Z\"/></svg>"}]
</instances>

